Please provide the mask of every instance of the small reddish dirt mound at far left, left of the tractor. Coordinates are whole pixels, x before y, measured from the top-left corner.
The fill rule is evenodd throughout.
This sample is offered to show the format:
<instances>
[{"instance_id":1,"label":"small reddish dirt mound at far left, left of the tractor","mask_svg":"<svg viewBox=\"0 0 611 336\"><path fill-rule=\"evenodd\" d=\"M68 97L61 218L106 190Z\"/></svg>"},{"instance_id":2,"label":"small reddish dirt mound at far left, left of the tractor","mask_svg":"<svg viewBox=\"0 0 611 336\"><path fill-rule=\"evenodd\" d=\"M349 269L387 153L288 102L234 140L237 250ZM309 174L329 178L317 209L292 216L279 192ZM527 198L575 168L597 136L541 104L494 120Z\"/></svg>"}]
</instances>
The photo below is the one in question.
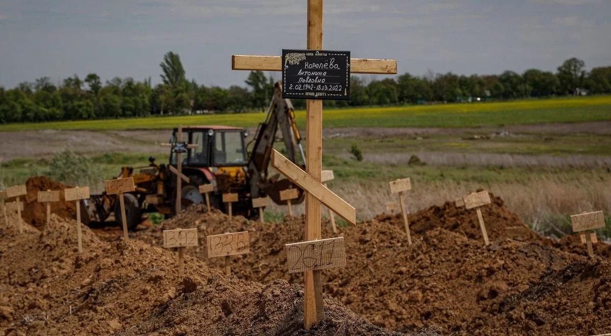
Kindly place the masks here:
<instances>
[{"instance_id":1,"label":"small reddish dirt mound at far left, left of the tractor","mask_svg":"<svg viewBox=\"0 0 611 336\"><path fill-rule=\"evenodd\" d=\"M64 199L64 189L71 188L62 183L53 181L45 176L31 177L26 181L27 195L24 199L24 210L21 213L26 223L37 228L45 226L46 204L38 203L38 191L59 190L59 202L51 203L51 213L59 217L76 219L75 202L66 202Z\"/></svg>"}]
</instances>

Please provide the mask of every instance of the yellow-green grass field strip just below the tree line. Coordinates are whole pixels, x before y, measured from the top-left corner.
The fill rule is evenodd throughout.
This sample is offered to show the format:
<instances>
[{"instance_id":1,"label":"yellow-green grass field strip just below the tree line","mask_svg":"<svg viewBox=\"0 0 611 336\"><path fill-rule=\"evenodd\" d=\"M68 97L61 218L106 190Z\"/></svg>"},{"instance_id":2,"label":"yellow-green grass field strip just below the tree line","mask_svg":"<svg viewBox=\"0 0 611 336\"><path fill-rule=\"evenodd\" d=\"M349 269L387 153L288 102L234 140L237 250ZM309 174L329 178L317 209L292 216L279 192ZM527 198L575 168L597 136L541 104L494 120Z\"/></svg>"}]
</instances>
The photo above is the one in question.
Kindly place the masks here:
<instances>
[{"instance_id":1,"label":"yellow-green grass field strip just below the tree line","mask_svg":"<svg viewBox=\"0 0 611 336\"><path fill-rule=\"evenodd\" d=\"M297 111L300 127L305 111ZM262 113L185 115L112 120L13 123L0 131L152 130L177 125L254 127ZM521 100L502 103L439 104L378 108L326 109L324 127L477 127L611 120L611 96Z\"/></svg>"}]
</instances>

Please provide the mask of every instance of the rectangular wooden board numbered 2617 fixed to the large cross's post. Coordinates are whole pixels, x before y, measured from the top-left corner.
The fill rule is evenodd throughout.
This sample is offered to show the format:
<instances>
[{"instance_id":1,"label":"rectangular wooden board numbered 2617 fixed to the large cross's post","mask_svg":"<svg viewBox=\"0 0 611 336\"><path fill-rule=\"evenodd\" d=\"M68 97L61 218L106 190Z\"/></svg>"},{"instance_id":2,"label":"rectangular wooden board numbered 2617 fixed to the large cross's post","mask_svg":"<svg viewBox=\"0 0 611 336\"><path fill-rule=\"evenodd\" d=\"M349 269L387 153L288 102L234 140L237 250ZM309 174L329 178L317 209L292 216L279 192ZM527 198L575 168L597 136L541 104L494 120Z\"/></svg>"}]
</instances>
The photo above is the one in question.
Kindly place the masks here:
<instances>
[{"instance_id":1,"label":"rectangular wooden board numbered 2617 fixed to the large cross's post","mask_svg":"<svg viewBox=\"0 0 611 336\"><path fill-rule=\"evenodd\" d=\"M343 237L285 244L285 250L289 273L346 266Z\"/></svg>"}]
</instances>

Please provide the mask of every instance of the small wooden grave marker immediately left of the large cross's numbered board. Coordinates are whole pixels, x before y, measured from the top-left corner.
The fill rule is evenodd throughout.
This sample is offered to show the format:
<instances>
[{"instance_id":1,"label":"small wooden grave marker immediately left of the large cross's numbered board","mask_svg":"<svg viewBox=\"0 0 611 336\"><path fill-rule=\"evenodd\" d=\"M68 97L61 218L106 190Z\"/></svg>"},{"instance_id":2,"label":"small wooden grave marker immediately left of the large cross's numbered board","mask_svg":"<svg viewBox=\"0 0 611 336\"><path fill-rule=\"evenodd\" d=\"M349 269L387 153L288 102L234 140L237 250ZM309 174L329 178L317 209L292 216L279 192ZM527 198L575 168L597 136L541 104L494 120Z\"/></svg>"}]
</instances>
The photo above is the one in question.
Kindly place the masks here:
<instances>
[{"instance_id":1,"label":"small wooden grave marker immediately left of the large cross's numbered board","mask_svg":"<svg viewBox=\"0 0 611 336\"><path fill-rule=\"evenodd\" d=\"M223 233L206 236L208 258L225 257L225 275L231 275L229 264L232 255L251 253L251 243L247 231Z\"/></svg>"}]
</instances>

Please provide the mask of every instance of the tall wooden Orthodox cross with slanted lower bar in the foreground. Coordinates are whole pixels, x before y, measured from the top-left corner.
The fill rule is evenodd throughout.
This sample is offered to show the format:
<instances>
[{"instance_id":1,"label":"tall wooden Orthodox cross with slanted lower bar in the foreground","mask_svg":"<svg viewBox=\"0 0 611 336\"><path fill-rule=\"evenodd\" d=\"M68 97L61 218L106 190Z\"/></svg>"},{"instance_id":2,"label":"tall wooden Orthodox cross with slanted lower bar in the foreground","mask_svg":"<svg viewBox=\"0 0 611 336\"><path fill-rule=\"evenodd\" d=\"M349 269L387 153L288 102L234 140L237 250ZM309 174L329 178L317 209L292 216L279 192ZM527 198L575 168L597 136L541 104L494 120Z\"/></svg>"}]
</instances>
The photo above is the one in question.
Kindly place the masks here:
<instances>
[{"instance_id":1,"label":"tall wooden Orthodox cross with slanted lower bar in the foreground","mask_svg":"<svg viewBox=\"0 0 611 336\"><path fill-rule=\"evenodd\" d=\"M308 0L307 2L307 49L323 49L323 0ZM282 66L282 57L280 56L232 56L232 70L282 71ZM393 75L397 73L397 60L351 59L350 72ZM297 184L306 191L305 239L313 240L321 239L321 201L349 222L354 222L354 216L352 215L354 214L354 208L348 205L348 203L343 202L342 199L321 184L323 166L323 101L307 100L306 104L307 120L305 123L305 133L307 145L305 150L305 172L299 167L297 167L298 171L295 172L296 175L293 176L288 175L282 170L280 172L293 182L296 182L295 177L300 177L302 181L307 183L307 186ZM280 160L282 156L280 153L275 152L274 156L279 161L284 161ZM274 165L274 167L276 166ZM341 202L338 202L337 199ZM334 200L334 203L327 203L324 200ZM338 211L337 208L334 208L335 205L348 205L352 210L344 208L344 210ZM304 272L305 329L309 329L318 319L324 317L320 275L320 270Z\"/></svg>"}]
</instances>

